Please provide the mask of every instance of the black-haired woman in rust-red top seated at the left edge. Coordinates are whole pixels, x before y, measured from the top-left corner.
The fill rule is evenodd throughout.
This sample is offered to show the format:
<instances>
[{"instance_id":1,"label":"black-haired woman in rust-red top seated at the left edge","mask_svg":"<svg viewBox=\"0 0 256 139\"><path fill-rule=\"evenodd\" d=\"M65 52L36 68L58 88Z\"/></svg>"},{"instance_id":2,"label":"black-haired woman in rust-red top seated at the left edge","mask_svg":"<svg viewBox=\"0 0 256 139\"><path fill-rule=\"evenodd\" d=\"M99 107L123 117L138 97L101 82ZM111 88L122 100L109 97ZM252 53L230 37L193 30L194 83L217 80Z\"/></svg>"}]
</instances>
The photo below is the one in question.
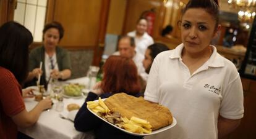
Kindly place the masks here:
<instances>
[{"instance_id":1,"label":"black-haired woman in rust-red top seated at the left edge","mask_svg":"<svg viewBox=\"0 0 256 139\"><path fill-rule=\"evenodd\" d=\"M14 139L17 127L35 124L52 102L45 98L31 111L25 109L20 84L28 74L28 46L33 41L30 31L19 23L7 22L0 27L0 38L0 138Z\"/></svg>"}]
</instances>

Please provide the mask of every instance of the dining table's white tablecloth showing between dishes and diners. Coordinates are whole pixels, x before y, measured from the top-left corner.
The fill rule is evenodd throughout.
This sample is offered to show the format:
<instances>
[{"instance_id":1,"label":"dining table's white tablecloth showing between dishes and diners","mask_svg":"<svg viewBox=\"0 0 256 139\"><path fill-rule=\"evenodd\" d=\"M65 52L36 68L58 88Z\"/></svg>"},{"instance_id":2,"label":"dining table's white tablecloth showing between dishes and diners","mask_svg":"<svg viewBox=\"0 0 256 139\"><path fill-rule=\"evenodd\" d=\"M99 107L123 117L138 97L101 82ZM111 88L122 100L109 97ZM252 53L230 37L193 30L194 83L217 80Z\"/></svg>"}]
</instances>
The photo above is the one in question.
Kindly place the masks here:
<instances>
[{"instance_id":1,"label":"dining table's white tablecloth showing between dishes and diners","mask_svg":"<svg viewBox=\"0 0 256 139\"><path fill-rule=\"evenodd\" d=\"M84 84L85 86L88 84L88 77L80 77L77 79L70 79L65 82L61 82L62 84L67 83L77 83ZM56 103L57 100L53 100L53 107L51 109L47 109L43 111L38 119L38 121L32 126L28 128L19 128L19 131L28 135L29 137L35 139L45 139L45 138L53 138L53 139L80 139L87 138L91 139L93 137L93 132L79 132L75 130L74 127L74 116L73 119L69 117L65 117L63 115L70 113L67 110L67 105L70 103L75 103L77 105L82 106L85 101L86 93L83 93L82 97L79 98L65 98L63 99L64 109L59 112L56 111ZM24 99L25 108L27 111L32 110L38 101L34 99Z\"/></svg>"}]
</instances>

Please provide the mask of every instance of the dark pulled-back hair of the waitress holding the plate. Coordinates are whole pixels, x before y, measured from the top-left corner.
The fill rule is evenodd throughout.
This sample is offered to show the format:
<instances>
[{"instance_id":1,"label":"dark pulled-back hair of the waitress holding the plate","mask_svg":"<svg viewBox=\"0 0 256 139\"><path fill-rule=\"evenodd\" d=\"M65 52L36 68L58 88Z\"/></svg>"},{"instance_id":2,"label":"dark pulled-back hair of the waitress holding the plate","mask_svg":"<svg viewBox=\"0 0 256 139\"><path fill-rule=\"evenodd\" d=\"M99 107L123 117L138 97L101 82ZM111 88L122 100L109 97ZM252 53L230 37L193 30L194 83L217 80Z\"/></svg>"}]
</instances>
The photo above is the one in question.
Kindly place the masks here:
<instances>
[{"instance_id":1,"label":"dark pulled-back hair of the waitress holding the plate","mask_svg":"<svg viewBox=\"0 0 256 139\"><path fill-rule=\"evenodd\" d=\"M215 28L218 27L219 22L219 2L218 0L190 0L186 7L182 10L182 15L185 14L185 12L188 9L191 8L202 8L205 9L208 14L210 14L216 21Z\"/></svg>"}]
</instances>

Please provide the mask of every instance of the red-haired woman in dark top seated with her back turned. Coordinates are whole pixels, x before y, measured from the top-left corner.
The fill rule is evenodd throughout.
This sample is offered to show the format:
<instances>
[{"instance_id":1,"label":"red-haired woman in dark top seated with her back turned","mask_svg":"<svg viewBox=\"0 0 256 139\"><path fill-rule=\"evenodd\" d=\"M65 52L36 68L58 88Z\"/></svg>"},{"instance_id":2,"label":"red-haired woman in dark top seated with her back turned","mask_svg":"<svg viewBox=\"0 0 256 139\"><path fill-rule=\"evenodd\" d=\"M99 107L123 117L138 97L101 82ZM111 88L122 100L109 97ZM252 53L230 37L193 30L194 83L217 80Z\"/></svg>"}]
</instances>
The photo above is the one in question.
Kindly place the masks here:
<instances>
[{"instance_id":1,"label":"red-haired woman in dark top seated with her back turned","mask_svg":"<svg viewBox=\"0 0 256 139\"><path fill-rule=\"evenodd\" d=\"M86 132L95 131L95 137L101 138L142 138L122 132L102 121L87 109L87 101L108 98L115 93L125 92L135 97L140 96L140 84L137 68L132 59L111 55L103 66L103 80L98 82L75 116L75 129Z\"/></svg>"}]
</instances>

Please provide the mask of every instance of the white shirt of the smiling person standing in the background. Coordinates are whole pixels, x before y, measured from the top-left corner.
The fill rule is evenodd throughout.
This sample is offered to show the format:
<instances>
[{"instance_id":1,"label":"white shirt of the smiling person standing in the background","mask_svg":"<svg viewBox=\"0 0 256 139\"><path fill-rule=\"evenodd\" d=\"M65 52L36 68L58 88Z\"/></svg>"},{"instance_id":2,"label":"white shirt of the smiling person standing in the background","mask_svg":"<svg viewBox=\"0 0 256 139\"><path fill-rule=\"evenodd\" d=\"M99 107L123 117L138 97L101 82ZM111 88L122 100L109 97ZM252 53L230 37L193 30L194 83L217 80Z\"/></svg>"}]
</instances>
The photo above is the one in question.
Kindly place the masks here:
<instances>
[{"instance_id":1,"label":"white shirt of the smiling person standing in the background","mask_svg":"<svg viewBox=\"0 0 256 139\"><path fill-rule=\"evenodd\" d=\"M143 57L148 46L154 43L153 38L148 33L144 33L140 38L136 37L136 31L129 32L127 35L135 39L136 52L142 54Z\"/></svg>"}]
</instances>

